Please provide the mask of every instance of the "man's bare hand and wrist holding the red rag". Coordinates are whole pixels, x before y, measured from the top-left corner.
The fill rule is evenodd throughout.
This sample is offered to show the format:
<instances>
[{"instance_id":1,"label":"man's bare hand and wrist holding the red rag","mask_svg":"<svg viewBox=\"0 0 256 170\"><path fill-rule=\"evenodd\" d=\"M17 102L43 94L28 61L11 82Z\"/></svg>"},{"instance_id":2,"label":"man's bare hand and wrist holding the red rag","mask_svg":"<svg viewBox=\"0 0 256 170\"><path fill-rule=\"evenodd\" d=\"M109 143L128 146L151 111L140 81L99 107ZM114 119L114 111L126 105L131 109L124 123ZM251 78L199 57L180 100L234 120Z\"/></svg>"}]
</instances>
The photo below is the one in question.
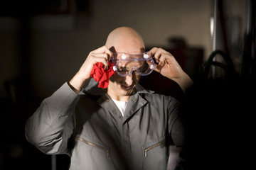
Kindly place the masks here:
<instances>
[{"instance_id":1,"label":"man's bare hand and wrist holding the red rag","mask_svg":"<svg viewBox=\"0 0 256 170\"><path fill-rule=\"evenodd\" d=\"M82 64L82 67L80 67L73 79L69 81L70 87L73 89L73 91L75 91L76 94L78 94L80 89L82 89L85 81L90 79L93 65L97 62L102 62L106 69L108 67L108 61L110 60L111 55L112 52L105 45L89 53L85 62Z\"/></svg>"}]
</instances>

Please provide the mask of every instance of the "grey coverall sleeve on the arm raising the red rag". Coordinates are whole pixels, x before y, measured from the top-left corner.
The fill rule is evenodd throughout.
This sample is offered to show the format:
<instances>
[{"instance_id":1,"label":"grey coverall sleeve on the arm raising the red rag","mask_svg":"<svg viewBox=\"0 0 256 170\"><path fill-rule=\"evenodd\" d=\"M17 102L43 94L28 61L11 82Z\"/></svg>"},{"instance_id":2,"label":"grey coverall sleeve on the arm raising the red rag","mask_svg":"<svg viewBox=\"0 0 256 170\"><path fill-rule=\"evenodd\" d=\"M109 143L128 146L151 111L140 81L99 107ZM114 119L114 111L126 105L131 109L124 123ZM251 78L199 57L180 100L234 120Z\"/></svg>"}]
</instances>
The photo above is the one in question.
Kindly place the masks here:
<instances>
[{"instance_id":1,"label":"grey coverall sleeve on the arm raising the red rag","mask_svg":"<svg viewBox=\"0 0 256 170\"><path fill-rule=\"evenodd\" d=\"M73 133L73 113L79 96L63 84L52 96L46 98L25 125L28 142L46 154L68 152L68 139Z\"/></svg>"}]
</instances>

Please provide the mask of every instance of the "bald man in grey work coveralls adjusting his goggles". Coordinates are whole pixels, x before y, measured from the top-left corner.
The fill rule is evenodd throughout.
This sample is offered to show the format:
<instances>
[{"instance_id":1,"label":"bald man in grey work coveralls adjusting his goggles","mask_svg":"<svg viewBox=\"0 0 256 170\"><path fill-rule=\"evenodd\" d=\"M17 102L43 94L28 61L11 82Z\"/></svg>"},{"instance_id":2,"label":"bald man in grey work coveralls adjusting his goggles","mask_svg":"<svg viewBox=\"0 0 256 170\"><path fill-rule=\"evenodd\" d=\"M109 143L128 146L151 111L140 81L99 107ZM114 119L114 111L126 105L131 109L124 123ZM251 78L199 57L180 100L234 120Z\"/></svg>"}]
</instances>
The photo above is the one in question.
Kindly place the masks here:
<instances>
[{"instance_id":1,"label":"bald man in grey work coveralls adjusting his goggles","mask_svg":"<svg viewBox=\"0 0 256 170\"><path fill-rule=\"evenodd\" d=\"M102 62L107 69L116 52L145 52L142 36L132 28L114 29L73 79L28 119L27 140L46 154L70 155L70 169L166 169L169 146L182 147L184 142L180 103L140 86L137 70L115 74L107 89L98 88L90 80L92 67ZM149 53L158 63L154 70L184 92L193 84L169 52L154 47Z\"/></svg>"}]
</instances>

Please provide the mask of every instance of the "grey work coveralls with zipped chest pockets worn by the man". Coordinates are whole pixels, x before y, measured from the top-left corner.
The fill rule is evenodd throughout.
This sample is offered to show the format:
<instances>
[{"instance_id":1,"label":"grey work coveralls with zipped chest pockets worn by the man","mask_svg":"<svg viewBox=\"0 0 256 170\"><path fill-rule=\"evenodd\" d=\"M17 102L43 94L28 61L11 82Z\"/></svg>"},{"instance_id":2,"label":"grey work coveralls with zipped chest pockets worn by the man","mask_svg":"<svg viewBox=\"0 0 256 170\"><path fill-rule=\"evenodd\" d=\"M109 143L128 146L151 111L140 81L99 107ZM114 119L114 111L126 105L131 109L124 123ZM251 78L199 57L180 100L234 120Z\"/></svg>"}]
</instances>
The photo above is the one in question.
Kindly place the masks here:
<instances>
[{"instance_id":1,"label":"grey work coveralls with zipped chest pockets worn by the man","mask_svg":"<svg viewBox=\"0 0 256 170\"><path fill-rule=\"evenodd\" d=\"M96 85L77 95L63 84L28 119L27 140L69 154L70 169L166 169L169 145L183 145L180 103L137 84L123 117Z\"/></svg>"}]
</instances>

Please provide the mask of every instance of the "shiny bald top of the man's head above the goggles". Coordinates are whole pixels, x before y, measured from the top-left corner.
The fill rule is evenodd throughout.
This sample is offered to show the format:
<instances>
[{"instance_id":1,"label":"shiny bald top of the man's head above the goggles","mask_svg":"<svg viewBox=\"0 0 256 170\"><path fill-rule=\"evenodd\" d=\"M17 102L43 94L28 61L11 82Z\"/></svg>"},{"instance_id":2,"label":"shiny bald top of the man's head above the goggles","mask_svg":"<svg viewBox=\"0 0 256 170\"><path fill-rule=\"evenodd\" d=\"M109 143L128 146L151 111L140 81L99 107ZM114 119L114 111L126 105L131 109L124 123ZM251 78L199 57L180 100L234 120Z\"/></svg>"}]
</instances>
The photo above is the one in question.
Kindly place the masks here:
<instances>
[{"instance_id":1,"label":"shiny bald top of the man's head above the goggles","mask_svg":"<svg viewBox=\"0 0 256 170\"><path fill-rule=\"evenodd\" d=\"M141 53L145 51L142 36L129 27L119 27L112 30L105 45L116 52Z\"/></svg>"}]
</instances>

